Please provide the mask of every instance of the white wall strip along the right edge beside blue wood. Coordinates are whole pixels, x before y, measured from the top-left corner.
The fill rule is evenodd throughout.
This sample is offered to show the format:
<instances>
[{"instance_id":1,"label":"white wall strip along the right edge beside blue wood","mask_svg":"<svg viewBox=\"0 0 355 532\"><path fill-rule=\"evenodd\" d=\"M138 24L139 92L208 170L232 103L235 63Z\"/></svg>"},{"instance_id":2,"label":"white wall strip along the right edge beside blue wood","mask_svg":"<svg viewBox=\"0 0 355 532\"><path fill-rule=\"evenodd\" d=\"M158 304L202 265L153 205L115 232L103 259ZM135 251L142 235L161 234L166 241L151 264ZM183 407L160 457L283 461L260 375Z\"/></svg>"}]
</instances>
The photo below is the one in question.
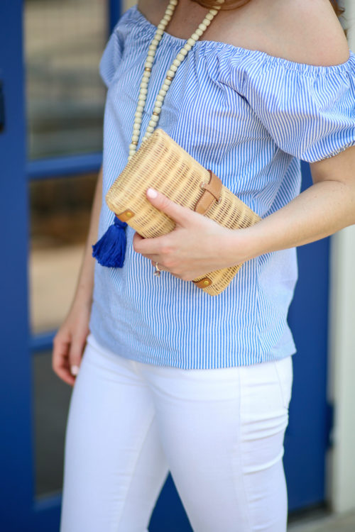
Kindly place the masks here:
<instances>
[{"instance_id":1,"label":"white wall strip along the right edge beside blue wood","mask_svg":"<svg viewBox=\"0 0 355 532\"><path fill-rule=\"evenodd\" d=\"M343 5L355 51L355 0ZM335 426L327 494L332 509L340 512L355 509L355 226L333 235L331 249L329 399L334 401Z\"/></svg>"}]
</instances>

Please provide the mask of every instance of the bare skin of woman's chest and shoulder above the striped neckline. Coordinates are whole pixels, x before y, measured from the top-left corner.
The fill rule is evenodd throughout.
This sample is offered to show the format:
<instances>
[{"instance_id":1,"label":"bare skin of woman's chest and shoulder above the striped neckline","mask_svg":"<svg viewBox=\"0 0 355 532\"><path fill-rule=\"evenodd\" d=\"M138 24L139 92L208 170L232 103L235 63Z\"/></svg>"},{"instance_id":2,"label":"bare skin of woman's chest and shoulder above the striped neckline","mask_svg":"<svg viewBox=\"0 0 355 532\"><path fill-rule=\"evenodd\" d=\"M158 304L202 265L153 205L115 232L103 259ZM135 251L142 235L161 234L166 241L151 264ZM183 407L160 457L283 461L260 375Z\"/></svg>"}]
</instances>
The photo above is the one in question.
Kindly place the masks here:
<instances>
[{"instance_id":1,"label":"bare skin of woman's chest and shoulder above the striped neckline","mask_svg":"<svg viewBox=\"0 0 355 532\"><path fill-rule=\"evenodd\" d=\"M138 9L158 24L168 0L138 0ZM180 0L168 32L189 38L207 9ZM309 65L339 65L349 46L329 0L250 0L239 9L220 11L204 39L259 50Z\"/></svg>"}]
</instances>

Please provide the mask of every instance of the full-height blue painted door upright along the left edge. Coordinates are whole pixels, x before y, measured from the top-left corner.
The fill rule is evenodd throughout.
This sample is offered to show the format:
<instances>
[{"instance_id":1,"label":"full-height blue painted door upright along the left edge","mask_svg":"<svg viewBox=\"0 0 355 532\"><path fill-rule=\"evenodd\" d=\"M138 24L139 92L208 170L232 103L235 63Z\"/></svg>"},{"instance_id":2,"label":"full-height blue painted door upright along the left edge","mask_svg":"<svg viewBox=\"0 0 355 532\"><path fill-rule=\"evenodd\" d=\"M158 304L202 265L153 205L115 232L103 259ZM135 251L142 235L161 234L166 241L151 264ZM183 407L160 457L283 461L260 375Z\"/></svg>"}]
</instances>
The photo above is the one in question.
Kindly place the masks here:
<instances>
[{"instance_id":1,"label":"full-height blue painted door upright along the left edge","mask_svg":"<svg viewBox=\"0 0 355 532\"><path fill-rule=\"evenodd\" d=\"M22 1L0 2L1 530L28 530L33 497L32 379L28 352L28 199L25 177Z\"/></svg>"}]
</instances>

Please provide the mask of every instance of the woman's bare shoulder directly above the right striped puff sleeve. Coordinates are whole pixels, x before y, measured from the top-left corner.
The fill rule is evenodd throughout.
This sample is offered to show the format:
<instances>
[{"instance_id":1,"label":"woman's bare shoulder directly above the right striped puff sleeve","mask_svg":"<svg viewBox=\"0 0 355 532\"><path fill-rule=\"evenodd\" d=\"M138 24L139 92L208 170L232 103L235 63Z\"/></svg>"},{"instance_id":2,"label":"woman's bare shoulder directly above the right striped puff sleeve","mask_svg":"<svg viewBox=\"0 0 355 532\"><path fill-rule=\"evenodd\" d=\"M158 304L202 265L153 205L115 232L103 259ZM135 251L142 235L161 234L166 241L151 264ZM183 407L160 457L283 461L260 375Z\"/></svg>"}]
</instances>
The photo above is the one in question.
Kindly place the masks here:
<instances>
[{"instance_id":1,"label":"woman's bare shoulder directly above the right striped puff sleeve","mask_svg":"<svg viewBox=\"0 0 355 532\"><path fill-rule=\"evenodd\" d=\"M329 0L264 0L263 6L268 6L269 40L286 59L322 66L349 59L349 45Z\"/></svg>"}]
</instances>

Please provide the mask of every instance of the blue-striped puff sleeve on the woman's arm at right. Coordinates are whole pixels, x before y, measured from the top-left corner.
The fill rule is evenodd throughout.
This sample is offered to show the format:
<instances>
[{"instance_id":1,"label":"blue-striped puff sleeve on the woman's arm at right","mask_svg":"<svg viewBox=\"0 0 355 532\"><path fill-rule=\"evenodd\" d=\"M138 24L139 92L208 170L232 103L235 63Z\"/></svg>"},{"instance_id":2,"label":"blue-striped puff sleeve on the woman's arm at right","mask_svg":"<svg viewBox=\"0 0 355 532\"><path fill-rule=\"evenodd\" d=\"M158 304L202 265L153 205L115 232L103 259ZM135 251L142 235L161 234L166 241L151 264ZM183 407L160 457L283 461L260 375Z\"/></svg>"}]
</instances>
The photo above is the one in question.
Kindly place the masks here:
<instances>
[{"instance_id":1,"label":"blue-striped puff sleeve on the woman's arm at right","mask_svg":"<svg viewBox=\"0 0 355 532\"><path fill-rule=\"evenodd\" d=\"M317 67L257 52L231 68L231 84L285 153L307 162L355 145L355 55Z\"/></svg>"}]
</instances>

